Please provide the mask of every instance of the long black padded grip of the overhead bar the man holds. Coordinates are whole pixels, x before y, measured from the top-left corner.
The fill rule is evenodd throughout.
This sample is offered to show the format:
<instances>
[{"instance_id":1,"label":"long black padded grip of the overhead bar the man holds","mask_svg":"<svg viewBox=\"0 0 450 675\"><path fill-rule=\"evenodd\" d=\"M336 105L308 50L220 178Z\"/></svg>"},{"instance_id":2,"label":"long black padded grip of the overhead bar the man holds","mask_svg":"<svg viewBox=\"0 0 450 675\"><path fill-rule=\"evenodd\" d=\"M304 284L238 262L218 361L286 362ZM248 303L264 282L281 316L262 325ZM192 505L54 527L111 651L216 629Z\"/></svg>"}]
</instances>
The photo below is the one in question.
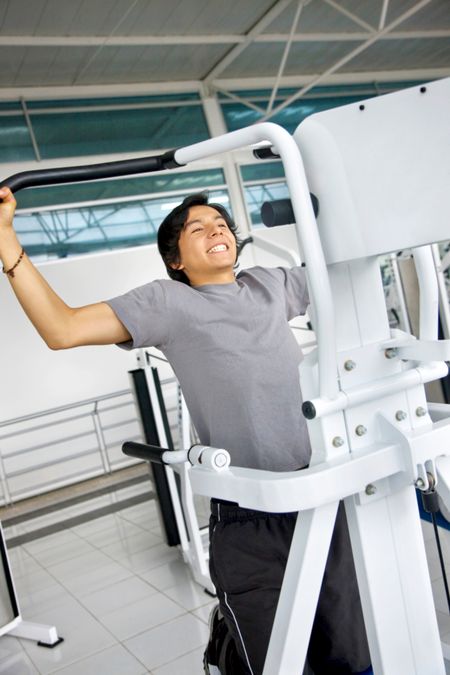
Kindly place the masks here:
<instances>
[{"instance_id":1,"label":"long black padded grip of the overhead bar the man holds","mask_svg":"<svg viewBox=\"0 0 450 675\"><path fill-rule=\"evenodd\" d=\"M169 150L163 155L154 157L140 157L138 159L125 159L118 162L104 162L103 164L85 164L80 166L63 166L54 169L36 169L35 171L23 171L1 181L12 192L30 187L42 187L44 185L61 185L63 183L80 183L101 178L115 178L117 176L129 176L137 173L151 173L174 169L178 164L174 159L176 150Z\"/></svg>"}]
</instances>

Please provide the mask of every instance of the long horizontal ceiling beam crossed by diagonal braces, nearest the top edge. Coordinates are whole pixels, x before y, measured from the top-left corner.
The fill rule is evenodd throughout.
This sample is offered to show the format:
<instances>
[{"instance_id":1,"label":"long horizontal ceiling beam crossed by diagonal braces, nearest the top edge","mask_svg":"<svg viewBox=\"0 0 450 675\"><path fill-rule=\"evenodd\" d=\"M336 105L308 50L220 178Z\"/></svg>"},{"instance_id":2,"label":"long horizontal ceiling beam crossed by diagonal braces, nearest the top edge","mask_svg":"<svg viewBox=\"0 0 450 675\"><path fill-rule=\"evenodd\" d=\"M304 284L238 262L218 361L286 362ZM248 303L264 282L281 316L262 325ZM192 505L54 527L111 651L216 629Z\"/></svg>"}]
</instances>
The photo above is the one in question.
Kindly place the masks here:
<instances>
[{"instance_id":1,"label":"long horizontal ceiling beam crossed by diagonal braces, nearest the top edge","mask_svg":"<svg viewBox=\"0 0 450 675\"><path fill-rule=\"evenodd\" d=\"M292 42L361 42L373 33L353 31L348 33L296 33ZM380 36L380 40L418 40L450 37L449 29L392 31ZM253 42L286 42L288 33L261 33ZM0 47L158 47L166 45L244 44L245 35L146 35L115 36L106 41L100 37L69 36L53 37L35 35L0 35Z\"/></svg>"}]
</instances>

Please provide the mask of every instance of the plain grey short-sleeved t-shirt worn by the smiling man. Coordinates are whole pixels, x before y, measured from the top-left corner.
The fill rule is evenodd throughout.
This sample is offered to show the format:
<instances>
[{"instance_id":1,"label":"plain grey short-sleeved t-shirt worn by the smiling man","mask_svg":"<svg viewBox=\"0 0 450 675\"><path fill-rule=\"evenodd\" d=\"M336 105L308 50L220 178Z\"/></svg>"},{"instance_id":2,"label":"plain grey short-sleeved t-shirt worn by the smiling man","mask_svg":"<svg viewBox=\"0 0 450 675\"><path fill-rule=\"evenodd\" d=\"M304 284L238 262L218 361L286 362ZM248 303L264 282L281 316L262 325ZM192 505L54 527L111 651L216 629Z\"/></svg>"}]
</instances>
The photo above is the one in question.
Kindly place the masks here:
<instances>
[{"instance_id":1,"label":"plain grey short-sleeved t-shirt worn by the smiling man","mask_svg":"<svg viewBox=\"0 0 450 675\"><path fill-rule=\"evenodd\" d=\"M166 355L202 443L229 450L235 466L308 464L302 354L288 324L308 305L302 268L253 267L197 287L153 281L107 302L132 336L121 347Z\"/></svg>"}]
</instances>

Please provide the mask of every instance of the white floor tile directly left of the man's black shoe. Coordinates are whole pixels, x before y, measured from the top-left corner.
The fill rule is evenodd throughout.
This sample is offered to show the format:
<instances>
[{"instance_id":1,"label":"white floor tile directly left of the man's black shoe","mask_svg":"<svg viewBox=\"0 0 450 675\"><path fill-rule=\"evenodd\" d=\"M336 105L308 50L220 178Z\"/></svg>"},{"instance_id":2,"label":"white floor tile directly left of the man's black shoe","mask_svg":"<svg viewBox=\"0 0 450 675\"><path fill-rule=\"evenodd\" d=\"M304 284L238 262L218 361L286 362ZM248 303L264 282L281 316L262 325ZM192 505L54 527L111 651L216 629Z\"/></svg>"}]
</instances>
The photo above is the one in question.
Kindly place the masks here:
<instances>
[{"instance_id":1,"label":"white floor tile directly left of the man's black shoe","mask_svg":"<svg viewBox=\"0 0 450 675\"><path fill-rule=\"evenodd\" d=\"M208 628L185 614L174 621L145 631L125 642L125 646L150 670L203 647L208 640Z\"/></svg>"}]
</instances>

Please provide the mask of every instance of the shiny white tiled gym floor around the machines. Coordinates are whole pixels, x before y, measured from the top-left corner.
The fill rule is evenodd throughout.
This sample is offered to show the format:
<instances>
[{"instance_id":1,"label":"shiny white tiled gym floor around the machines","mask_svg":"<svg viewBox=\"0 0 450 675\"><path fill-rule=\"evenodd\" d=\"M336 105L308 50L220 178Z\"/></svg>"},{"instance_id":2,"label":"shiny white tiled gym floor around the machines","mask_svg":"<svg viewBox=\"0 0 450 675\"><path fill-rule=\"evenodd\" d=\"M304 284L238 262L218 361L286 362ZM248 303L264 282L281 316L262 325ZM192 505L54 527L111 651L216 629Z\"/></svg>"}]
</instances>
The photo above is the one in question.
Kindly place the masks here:
<instances>
[{"instance_id":1,"label":"shiny white tiled gym floor around the machines","mask_svg":"<svg viewBox=\"0 0 450 675\"><path fill-rule=\"evenodd\" d=\"M148 480L30 515L4 523L21 613L55 625L64 642L46 649L5 635L0 673L203 675L214 600L163 542ZM450 643L431 524L423 522L423 531L441 635ZM441 530L441 541L450 572L449 531Z\"/></svg>"}]
</instances>

